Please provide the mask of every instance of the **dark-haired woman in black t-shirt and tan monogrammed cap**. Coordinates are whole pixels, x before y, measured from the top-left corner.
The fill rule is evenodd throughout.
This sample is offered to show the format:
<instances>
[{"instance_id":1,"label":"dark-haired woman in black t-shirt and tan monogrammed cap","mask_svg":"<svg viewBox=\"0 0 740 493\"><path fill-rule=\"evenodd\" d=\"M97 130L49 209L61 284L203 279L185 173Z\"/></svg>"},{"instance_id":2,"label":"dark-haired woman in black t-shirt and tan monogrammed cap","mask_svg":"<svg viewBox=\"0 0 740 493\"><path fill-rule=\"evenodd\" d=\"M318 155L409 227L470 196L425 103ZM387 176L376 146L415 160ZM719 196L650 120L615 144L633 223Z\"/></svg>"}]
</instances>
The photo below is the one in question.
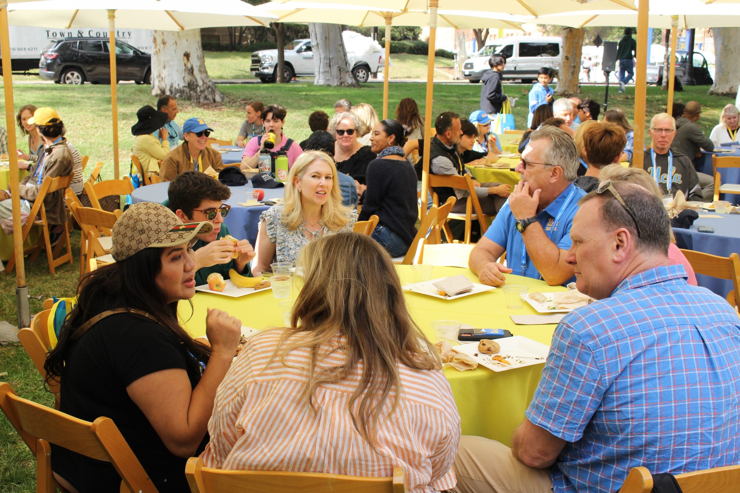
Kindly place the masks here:
<instances>
[{"instance_id":1,"label":"dark-haired woman in black t-shirt and tan monogrammed cap","mask_svg":"<svg viewBox=\"0 0 740 493\"><path fill-rule=\"evenodd\" d=\"M44 365L47 378L60 379L60 410L86 421L112 418L161 493L190 491L185 463L208 442L216 387L240 338L241 322L220 310L206 316L209 345L178 323L178 302L195 294L190 247L212 228L184 225L164 205L132 205L113 228L116 262L81 280ZM104 318L88 323L95 316ZM51 463L70 491L120 489L110 463L58 446Z\"/></svg>"}]
</instances>

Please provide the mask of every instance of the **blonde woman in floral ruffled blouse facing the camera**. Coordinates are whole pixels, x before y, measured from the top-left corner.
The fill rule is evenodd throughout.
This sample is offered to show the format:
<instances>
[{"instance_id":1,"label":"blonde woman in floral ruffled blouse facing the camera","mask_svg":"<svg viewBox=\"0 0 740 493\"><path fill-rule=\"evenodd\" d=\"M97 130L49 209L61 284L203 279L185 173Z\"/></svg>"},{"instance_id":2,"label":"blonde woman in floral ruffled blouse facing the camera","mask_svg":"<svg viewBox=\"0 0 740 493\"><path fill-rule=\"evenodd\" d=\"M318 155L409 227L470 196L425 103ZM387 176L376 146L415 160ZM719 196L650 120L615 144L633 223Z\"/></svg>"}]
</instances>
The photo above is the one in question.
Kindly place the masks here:
<instances>
[{"instance_id":1,"label":"blonde woman in floral ruffled blouse facing the camera","mask_svg":"<svg viewBox=\"0 0 740 493\"><path fill-rule=\"evenodd\" d=\"M293 163L283 202L260 216L255 273L272 262L295 262L312 239L352 231L357 212L342 205L337 166L326 152L306 151Z\"/></svg>"}]
</instances>

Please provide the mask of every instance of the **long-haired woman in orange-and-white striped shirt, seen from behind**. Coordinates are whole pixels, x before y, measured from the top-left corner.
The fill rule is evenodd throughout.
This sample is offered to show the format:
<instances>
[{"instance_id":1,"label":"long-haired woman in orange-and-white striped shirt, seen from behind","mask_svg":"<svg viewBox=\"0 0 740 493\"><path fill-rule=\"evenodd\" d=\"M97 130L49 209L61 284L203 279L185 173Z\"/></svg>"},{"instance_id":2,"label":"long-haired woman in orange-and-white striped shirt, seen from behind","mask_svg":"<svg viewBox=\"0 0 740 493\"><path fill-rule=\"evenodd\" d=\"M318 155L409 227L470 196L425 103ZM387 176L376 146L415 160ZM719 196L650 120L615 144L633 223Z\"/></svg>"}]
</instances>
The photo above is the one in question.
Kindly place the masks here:
<instances>
[{"instance_id":1,"label":"long-haired woman in orange-and-white striped shirt, seen from behind","mask_svg":"<svg viewBox=\"0 0 740 493\"><path fill-rule=\"evenodd\" d=\"M218 387L206 466L369 477L402 466L411 492L454 487L460 415L391 257L339 233L306 245L298 265L292 327L249 339Z\"/></svg>"}]
</instances>

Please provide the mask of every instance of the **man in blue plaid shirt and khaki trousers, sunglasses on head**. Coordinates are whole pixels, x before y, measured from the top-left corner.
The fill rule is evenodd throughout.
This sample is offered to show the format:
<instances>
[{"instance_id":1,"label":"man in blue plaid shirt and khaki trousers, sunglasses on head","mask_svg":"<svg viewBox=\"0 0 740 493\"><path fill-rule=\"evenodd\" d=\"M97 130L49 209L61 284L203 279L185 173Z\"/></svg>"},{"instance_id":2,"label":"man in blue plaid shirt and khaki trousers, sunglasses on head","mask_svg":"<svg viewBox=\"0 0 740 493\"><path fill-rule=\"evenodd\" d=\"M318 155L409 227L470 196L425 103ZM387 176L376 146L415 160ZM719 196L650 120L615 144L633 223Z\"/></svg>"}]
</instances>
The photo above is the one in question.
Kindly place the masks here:
<instances>
[{"instance_id":1,"label":"man in blue plaid shirt and khaki trousers, sunglasses on head","mask_svg":"<svg viewBox=\"0 0 740 493\"><path fill-rule=\"evenodd\" d=\"M599 193L601 192L601 193ZM630 468L740 463L740 318L670 265L661 201L605 182L573 218L577 287L512 448L465 437L457 492L616 492Z\"/></svg>"}]
</instances>

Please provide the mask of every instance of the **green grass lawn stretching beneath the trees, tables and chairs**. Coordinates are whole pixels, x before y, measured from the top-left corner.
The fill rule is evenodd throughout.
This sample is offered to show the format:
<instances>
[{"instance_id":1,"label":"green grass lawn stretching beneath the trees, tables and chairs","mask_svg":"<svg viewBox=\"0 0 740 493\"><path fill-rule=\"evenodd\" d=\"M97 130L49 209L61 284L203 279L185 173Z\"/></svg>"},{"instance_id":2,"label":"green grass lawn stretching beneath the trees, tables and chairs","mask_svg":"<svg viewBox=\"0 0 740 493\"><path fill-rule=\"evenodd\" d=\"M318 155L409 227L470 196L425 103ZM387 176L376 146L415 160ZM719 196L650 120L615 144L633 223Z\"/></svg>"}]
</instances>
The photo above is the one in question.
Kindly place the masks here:
<instances>
[{"instance_id":1,"label":"green grass lawn stretching beneath the trees, tables and chairs","mask_svg":"<svg viewBox=\"0 0 740 493\"><path fill-rule=\"evenodd\" d=\"M209 52L206 63L209 65L214 78L235 78L243 71L246 77L249 57L246 54L244 61L235 60L235 57L221 56L221 53ZM239 54L242 55L242 54ZM408 63L403 63L404 56L396 55L391 74L394 77L412 77L414 74L425 72L423 64L417 64L416 59L406 55ZM423 58L423 57L417 57ZM437 62L442 62L437 60ZM394 72L397 70L398 72ZM407 74L407 75L403 75ZM22 79L22 78L19 78ZM288 109L285 132L295 140L303 140L309 135L306 120L311 112L323 109L331 115L334 101L348 98L353 103L370 103L382 112L383 86L382 84L365 84L356 89L338 89L332 87L314 86L312 82L303 81L293 84L244 84L223 85L221 92L226 95L226 101L221 105L204 108L194 106L187 101L180 101L181 109L178 122L186 118L198 116L206 120L215 129L215 137L234 139L236 132L244 118L243 106L245 101L258 99L264 103L280 103ZM523 84L507 84L505 92L513 97L522 98L521 104L514 108L514 119L517 128L525 127L527 118L526 95L530 86ZM733 103L730 98L719 98L706 94L707 86L685 86L684 92L676 93L676 101L699 101L703 106L702 119L699 126L705 134L719 120L719 113L724 105ZM93 86L61 86L50 84L17 84L15 90L15 106L27 103L36 106L53 106L58 110L61 118L67 124L67 136L75 143L82 154L90 155L92 163L103 161L106 167L103 171L104 179L113 176L112 171L112 130L110 128L110 87L103 85ZM634 89L628 87L628 92L619 94L616 87L610 93L610 108L622 108L632 118L634 107ZM582 97L591 97L596 101L603 101L603 86L584 86ZM424 111L425 84L393 84L390 89L391 116L393 109L401 98L411 97L420 104ZM468 115L478 109L480 98L480 84L438 84L434 88L434 114L443 111L456 111L460 115ZM144 104L154 105L156 98L150 94L147 86L124 84L118 87L119 109L119 137L121 173L127 173L129 152L133 137L129 132L135 123L135 113ZM647 115L653 115L665 109L666 95L659 87L647 88ZM4 102L0 104L4 109ZM382 116L382 115L381 115ZM27 149L27 143L19 138L19 147ZM88 168L87 173L90 172ZM55 276L50 276L45 256L40 256L37 262L26 263L27 285L31 296L38 296L41 300L56 296L73 296L77 283L79 259L79 232L73 234L73 251L75 264L59 268ZM0 319L16 324L15 276L0 273ZM31 312L41 310L41 301L31 300ZM41 378L33 364L27 358L23 348L19 345L0 347L0 373L7 372L7 376L0 377L0 381L8 381L24 397L34 401L49 404L52 399L42 390ZM24 444L19 441L16 432L5 418L0 418L0 493L4 492L33 492L35 463Z\"/></svg>"}]
</instances>

